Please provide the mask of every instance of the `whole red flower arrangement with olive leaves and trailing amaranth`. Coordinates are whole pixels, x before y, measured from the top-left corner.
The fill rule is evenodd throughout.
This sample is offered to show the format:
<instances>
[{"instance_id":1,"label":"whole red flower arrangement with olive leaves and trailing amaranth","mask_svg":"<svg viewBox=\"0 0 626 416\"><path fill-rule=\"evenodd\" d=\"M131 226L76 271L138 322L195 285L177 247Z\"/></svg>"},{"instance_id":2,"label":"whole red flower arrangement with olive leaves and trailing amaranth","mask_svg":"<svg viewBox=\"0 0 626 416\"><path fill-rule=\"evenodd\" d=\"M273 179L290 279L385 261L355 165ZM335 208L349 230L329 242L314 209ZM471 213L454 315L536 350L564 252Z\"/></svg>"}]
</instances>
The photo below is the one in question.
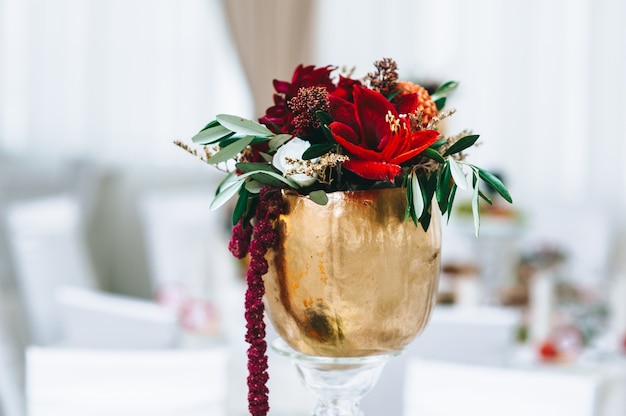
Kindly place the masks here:
<instances>
[{"instance_id":1,"label":"whole red flower arrangement with olive leaves and trailing amaranth","mask_svg":"<svg viewBox=\"0 0 626 416\"><path fill-rule=\"evenodd\" d=\"M439 131L440 122L454 113L444 106L456 82L429 94L399 80L394 60L374 66L364 79L355 79L336 74L334 66L300 65L290 82L274 80L274 105L258 122L221 114L191 139L200 148L176 142L226 171L212 209L237 196L229 248L238 258L250 256L245 306L253 415L269 409L263 275L265 254L277 243L273 222L284 211L281 190L324 205L331 192L402 187L405 220L426 230L433 204L449 218L457 189L471 189L477 233L479 201L492 203L481 181L512 202L496 175L466 161L464 151L478 135L446 137Z\"/></svg>"}]
</instances>

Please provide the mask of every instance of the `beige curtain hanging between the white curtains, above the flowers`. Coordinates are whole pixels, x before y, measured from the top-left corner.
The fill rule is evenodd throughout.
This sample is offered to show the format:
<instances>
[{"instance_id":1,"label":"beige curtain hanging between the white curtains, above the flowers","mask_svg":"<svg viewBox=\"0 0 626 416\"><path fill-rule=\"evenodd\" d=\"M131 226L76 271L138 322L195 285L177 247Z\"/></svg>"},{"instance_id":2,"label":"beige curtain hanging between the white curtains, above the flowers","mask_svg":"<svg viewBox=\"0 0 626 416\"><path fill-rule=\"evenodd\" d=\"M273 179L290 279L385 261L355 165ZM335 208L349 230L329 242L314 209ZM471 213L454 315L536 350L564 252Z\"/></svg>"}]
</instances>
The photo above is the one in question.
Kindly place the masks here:
<instances>
[{"instance_id":1,"label":"beige curtain hanging between the white curtains, above the flowers","mask_svg":"<svg viewBox=\"0 0 626 416\"><path fill-rule=\"evenodd\" d=\"M221 0L259 117L272 105L273 79L311 64L314 0Z\"/></svg>"}]
</instances>

